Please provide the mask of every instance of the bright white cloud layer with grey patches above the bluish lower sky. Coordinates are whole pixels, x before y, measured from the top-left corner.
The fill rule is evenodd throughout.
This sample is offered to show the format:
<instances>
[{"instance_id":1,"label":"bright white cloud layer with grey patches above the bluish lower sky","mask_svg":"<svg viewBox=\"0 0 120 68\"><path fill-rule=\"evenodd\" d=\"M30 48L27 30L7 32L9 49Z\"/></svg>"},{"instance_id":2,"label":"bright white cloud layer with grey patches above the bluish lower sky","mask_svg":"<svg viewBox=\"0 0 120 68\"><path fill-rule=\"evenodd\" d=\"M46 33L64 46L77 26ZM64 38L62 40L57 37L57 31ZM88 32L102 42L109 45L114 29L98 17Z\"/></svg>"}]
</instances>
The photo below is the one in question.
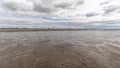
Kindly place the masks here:
<instances>
[{"instance_id":1,"label":"bright white cloud layer with grey patches above the bluish lower sky","mask_svg":"<svg viewBox=\"0 0 120 68\"><path fill-rule=\"evenodd\" d=\"M0 19L25 20L16 16L46 16L71 19L73 22L117 20L120 18L120 0L0 0ZM16 18L15 18L16 17ZM26 20L25 20L26 21ZM37 22L41 19L38 20ZM53 20L54 21L54 20Z\"/></svg>"}]
</instances>

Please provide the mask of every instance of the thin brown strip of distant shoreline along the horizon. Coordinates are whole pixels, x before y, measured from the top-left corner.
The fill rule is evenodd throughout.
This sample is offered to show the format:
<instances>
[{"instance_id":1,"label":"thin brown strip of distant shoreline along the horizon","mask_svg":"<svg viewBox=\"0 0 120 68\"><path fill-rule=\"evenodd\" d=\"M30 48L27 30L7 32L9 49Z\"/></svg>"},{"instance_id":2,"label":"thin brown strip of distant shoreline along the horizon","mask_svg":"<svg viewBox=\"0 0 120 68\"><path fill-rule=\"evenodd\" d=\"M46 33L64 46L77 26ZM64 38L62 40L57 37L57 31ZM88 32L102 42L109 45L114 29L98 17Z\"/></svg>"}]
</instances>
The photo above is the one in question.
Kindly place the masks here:
<instances>
[{"instance_id":1,"label":"thin brown strip of distant shoreline along the horizon","mask_svg":"<svg viewBox=\"0 0 120 68\"><path fill-rule=\"evenodd\" d=\"M0 32L27 31L79 31L79 30L120 30L120 29L44 29L44 28L0 28Z\"/></svg>"}]
</instances>

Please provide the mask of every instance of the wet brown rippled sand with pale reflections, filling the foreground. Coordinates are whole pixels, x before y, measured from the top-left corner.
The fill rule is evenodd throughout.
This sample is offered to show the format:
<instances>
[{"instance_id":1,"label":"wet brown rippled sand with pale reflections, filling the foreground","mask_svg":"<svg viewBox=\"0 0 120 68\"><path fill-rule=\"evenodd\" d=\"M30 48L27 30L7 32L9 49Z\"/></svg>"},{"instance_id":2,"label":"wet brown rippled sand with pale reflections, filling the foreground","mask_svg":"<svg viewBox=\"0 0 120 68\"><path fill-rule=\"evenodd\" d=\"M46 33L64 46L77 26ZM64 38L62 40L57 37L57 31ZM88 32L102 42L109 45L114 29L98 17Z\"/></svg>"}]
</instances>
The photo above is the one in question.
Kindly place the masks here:
<instances>
[{"instance_id":1,"label":"wet brown rippled sand with pale reflections, filling the foreground","mask_svg":"<svg viewBox=\"0 0 120 68\"><path fill-rule=\"evenodd\" d=\"M119 67L119 30L0 32L0 68Z\"/></svg>"}]
</instances>

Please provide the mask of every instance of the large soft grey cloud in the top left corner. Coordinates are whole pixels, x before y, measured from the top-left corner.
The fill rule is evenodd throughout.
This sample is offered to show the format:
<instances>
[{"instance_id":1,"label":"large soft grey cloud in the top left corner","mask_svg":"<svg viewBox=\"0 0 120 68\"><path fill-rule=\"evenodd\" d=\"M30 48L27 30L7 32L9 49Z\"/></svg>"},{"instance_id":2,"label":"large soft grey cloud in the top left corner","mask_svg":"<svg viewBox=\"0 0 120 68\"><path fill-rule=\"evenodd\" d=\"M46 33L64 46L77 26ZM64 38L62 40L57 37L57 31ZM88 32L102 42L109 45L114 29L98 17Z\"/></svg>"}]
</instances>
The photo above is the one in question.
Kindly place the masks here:
<instances>
[{"instance_id":1,"label":"large soft grey cloud in the top left corner","mask_svg":"<svg viewBox=\"0 0 120 68\"><path fill-rule=\"evenodd\" d=\"M26 0L22 1L4 1L1 3L2 8L11 10L11 11L29 11L32 10L32 3Z\"/></svg>"}]
</instances>

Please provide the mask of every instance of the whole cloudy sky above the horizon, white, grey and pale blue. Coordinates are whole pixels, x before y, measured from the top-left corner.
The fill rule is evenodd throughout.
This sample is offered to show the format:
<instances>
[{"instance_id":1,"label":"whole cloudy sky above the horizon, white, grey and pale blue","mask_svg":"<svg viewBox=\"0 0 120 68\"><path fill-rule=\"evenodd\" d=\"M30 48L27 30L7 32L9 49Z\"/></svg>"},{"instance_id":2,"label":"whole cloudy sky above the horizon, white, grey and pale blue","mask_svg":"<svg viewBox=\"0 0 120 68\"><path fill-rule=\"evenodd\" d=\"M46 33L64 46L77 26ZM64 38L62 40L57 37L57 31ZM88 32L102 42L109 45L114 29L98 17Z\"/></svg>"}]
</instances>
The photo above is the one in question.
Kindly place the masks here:
<instances>
[{"instance_id":1,"label":"whole cloudy sky above the horizon, white, grey and pale blue","mask_svg":"<svg viewBox=\"0 0 120 68\"><path fill-rule=\"evenodd\" d=\"M0 28L120 28L120 0L0 0Z\"/></svg>"}]
</instances>

